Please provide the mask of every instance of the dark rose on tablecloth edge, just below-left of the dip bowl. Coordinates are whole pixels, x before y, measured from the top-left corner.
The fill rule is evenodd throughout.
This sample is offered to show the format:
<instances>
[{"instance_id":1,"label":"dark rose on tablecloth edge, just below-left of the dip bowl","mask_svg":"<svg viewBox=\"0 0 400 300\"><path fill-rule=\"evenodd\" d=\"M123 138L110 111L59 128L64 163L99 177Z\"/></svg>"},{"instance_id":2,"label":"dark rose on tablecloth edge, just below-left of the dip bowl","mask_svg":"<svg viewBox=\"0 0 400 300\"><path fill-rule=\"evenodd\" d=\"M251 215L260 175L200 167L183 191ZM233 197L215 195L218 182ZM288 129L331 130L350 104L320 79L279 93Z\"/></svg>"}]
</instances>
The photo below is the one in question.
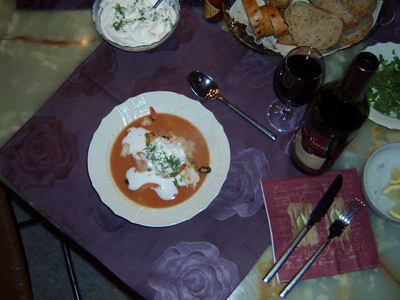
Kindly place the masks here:
<instances>
[{"instance_id":1,"label":"dark rose on tablecloth edge, just below-left of the dip bowl","mask_svg":"<svg viewBox=\"0 0 400 300\"><path fill-rule=\"evenodd\" d=\"M94 96L114 79L114 73L118 68L115 57L116 50L113 47L105 47L103 51L106 51L107 54L95 56L93 66L83 69L84 72L72 74L68 84L60 88L61 95L67 98L73 98L80 94Z\"/></svg>"}]
</instances>

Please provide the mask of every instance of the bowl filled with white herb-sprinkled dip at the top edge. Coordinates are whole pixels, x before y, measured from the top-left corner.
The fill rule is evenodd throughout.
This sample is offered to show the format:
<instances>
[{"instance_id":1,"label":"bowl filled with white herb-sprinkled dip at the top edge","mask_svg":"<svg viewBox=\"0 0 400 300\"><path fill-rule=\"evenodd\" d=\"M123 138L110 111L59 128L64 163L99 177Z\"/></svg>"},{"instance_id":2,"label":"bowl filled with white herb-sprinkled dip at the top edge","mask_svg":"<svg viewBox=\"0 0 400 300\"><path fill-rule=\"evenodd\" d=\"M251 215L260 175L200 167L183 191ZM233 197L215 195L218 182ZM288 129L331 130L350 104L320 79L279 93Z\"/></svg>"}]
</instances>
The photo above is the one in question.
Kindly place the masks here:
<instances>
[{"instance_id":1,"label":"bowl filled with white herb-sprinkled dip at the top edge","mask_svg":"<svg viewBox=\"0 0 400 300\"><path fill-rule=\"evenodd\" d=\"M179 0L96 0L92 17L99 34L121 50L142 52L165 42L180 17Z\"/></svg>"}]
</instances>

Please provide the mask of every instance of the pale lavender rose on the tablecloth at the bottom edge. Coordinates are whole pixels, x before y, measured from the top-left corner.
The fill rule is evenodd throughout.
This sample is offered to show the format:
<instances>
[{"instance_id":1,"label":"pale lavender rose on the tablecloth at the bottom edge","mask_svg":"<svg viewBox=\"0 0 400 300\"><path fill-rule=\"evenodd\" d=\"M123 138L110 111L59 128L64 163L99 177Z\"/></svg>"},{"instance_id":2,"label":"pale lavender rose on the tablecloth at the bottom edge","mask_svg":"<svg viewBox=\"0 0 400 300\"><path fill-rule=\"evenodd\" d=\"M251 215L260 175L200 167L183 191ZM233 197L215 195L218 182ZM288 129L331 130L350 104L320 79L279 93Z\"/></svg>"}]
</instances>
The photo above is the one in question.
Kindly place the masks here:
<instances>
[{"instance_id":1,"label":"pale lavender rose on the tablecloth at the bottom edge","mask_svg":"<svg viewBox=\"0 0 400 300\"><path fill-rule=\"evenodd\" d=\"M239 283L237 266L207 242L180 242L154 262L154 299L226 299Z\"/></svg>"}]
</instances>

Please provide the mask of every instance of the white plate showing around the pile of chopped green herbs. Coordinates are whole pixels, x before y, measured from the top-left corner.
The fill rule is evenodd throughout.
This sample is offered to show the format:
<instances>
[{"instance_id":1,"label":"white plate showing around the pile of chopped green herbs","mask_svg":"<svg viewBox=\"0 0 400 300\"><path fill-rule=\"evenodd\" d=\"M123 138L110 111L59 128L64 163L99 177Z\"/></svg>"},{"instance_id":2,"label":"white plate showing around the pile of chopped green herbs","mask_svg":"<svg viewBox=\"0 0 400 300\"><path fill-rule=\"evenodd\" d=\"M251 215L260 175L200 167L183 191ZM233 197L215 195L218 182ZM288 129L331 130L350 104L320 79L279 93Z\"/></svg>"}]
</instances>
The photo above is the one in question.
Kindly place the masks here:
<instances>
[{"instance_id":1,"label":"white plate showing around the pile of chopped green herbs","mask_svg":"<svg viewBox=\"0 0 400 300\"><path fill-rule=\"evenodd\" d=\"M400 44L395 44L395 43L383 43L383 44L376 44L374 46L367 47L365 51L371 52L375 54L378 58L379 55L382 54L382 56L389 60L393 60L393 49L396 51L396 55L400 55ZM400 119L397 119L396 117L390 117L388 115L385 115L375 108L372 107L371 105L371 110L369 113L369 118L371 121L374 121L375 123L385 126L389 129L398 129L400 130Z\"/></svg>"}]
</instances>

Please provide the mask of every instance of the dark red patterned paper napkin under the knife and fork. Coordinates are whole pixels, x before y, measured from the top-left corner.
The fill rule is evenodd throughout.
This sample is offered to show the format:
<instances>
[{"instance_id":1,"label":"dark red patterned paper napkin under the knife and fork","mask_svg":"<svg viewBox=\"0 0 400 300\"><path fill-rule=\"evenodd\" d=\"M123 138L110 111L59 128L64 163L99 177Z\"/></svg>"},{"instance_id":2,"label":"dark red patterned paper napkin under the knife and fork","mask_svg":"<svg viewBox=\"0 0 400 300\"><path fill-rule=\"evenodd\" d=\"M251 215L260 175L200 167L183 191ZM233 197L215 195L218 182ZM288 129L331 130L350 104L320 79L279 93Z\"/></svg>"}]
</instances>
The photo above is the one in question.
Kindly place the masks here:
<instances>
[{"instance_id":1,"label":"dark red patterned paper napkin under the knife and fork","mask_svg":"<svg viewBox=\"0 0 400 300\"><path fill-rule=\"evenodd\" d=\"M356 169L329 172L318 177L300 176L264 180L265 205L270 223L275 261L307 224L309 215L337 174L343 186L325 218L317 223L278 272L288 282L328 236L328 228L355 197L364 201ZM364 208L339 238L334 238L302 279L364 270L379 266L367 209Z\"/></svg>"}]
</instances>

